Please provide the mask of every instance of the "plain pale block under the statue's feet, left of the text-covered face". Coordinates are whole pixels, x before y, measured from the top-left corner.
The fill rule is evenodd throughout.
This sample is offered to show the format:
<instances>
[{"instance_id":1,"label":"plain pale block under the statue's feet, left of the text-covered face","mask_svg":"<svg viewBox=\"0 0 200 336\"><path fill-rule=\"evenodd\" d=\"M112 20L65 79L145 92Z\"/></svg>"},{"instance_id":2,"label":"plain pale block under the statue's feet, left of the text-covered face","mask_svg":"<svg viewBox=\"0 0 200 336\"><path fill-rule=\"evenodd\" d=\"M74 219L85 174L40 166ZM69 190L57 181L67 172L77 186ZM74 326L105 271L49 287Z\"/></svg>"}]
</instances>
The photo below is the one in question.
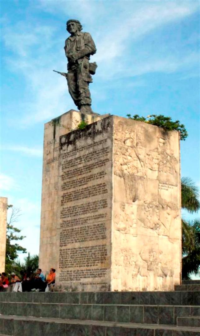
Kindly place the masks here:
<instances>
[{"instance_id":1,"label":"plain pale block under the statue's feet, left of the text-covered face","mask_svg":"<svg viewBox=\"0 0 200 336\"><path fill-rule=\"evenodd\" d=\"M83 120L91 124L102 117L95 114L81 114L80 112L70 110L44 125L39 252L39 264L43 272L48 272L51 267L58 267L60 245L59 241L57 241L57 228L59 227L58 210L60 208L58 185L60 136L76 129L78 124Z\"/></svg>"}]
</instances>

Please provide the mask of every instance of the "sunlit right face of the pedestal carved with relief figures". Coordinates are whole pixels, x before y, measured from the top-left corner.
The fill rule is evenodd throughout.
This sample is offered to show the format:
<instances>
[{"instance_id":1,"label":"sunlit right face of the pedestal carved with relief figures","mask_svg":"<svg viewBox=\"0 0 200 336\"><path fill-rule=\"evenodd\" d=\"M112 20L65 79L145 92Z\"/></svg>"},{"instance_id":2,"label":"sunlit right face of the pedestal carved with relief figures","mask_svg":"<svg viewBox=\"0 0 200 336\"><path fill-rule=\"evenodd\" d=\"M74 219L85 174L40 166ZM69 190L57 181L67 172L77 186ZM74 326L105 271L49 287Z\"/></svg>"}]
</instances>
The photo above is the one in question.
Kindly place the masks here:
<instances>
[{"instance_id":1,"label":"sunlit right face of the pedestal carved with relief figures","mask_svg":"<svg viewBox=\"0 0 200 336\"><path fill-rule=\"evenodd\" d=\"M112 290L180 283L177 132L113 117Z\"/></svg>"}]
</instances>

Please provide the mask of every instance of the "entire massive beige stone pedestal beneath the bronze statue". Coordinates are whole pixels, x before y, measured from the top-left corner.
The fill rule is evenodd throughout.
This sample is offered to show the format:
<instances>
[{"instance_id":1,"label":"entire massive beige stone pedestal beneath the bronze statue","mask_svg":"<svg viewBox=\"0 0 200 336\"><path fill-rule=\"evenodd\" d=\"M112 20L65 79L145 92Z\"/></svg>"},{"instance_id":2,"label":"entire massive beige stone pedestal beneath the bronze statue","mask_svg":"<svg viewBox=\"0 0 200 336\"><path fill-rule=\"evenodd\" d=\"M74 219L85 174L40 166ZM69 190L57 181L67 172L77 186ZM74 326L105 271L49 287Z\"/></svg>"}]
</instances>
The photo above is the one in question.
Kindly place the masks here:
<instances>
[{"instance_id":1,"label":"entire massive beige stone pedestal beneath the bronze statue","mask_svg":"<svg viewBox=\"0 0 200 336\"><path fill-rule=\"evenodd\" d=\"M181 272L178 132L116 116L70 132L74 117L61 116L66 128L45 125L40 267L55 267L68 290L173 290Z\"/></svg>"}]
</instances>

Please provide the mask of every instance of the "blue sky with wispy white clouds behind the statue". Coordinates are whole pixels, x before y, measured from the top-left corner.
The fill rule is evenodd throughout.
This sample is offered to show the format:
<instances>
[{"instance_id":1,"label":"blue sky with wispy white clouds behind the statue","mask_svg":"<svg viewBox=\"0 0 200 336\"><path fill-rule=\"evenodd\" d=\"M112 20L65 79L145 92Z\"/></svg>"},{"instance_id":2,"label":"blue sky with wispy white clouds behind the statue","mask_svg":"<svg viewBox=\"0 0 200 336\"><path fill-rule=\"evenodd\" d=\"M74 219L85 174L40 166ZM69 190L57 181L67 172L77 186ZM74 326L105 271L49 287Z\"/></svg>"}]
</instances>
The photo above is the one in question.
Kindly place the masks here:
<instances>
[{"instance_id":1,"label":"blue sky with wispy white clouds behind the statue","mask_svg":"<svg viewBox=\"0 0 200 336\"><path fill-rule=\"evenodd\" d=\"M93 110L180 120L189 133L181 175L199 185L198 1L1 0L1 196L21 208L16 225L31 254L39 252L43 125L75 109L52 71L66 71L69 18L97 47Z\"/></svg>"}]
</instances>

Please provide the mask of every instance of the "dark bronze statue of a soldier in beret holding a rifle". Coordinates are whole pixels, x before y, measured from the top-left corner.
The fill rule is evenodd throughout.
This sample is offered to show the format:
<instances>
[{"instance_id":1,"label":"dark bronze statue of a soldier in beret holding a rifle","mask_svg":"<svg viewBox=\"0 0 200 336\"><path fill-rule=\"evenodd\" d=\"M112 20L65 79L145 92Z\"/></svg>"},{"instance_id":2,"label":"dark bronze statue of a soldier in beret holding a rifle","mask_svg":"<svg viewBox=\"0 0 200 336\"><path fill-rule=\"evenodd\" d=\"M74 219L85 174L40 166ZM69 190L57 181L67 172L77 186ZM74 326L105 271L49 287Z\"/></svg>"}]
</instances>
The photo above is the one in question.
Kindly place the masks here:
<instances>
[{"instance_id":1,"label":"dark bronze statue of a soldier in beret holding a rifle","mask_svg":"<svg viewBox=\"0 0 200 336\"><path fill-rule=\"evenodd\" d=\"M59 73L66 77L69 93L78 110L91 114L89 83L92 82L91 74L95 74L97 65L89 60L90 55L96 53L96 47L91 35L81 32L82 26L78 20L68 20L66 29L70 33L64 46L68 72Z\"/></svg>"}]
</instances>

